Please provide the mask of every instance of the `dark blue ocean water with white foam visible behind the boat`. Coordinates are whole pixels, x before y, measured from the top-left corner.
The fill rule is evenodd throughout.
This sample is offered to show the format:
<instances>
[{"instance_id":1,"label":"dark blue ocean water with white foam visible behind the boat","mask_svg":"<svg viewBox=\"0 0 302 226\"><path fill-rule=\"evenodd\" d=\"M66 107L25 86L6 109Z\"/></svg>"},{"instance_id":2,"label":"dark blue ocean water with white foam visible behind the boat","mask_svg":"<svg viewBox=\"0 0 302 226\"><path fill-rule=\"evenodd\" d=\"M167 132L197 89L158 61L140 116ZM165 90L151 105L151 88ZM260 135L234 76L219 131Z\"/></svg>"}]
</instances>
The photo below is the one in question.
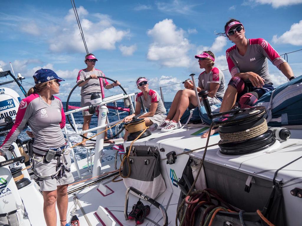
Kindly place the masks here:
<instances>
[{"instance_id":1,"label":"dark blue ocean water with white foam visible behind the boat","mask_svg":"<svg viewBox=\"0 0 302 226\"><path fill-rule=\"evenodd\" d=\"M165 102L165 108L169 109L170 106L171 106L171 103L172 102ZM75 106L75 107L80 107L80 102L69 102L69 105L72 105L72 106ZM113 103L109 103L108 105L114 106ZM117 102L117 106L118 107L124 107L124 102ZM66 112L66 102L63 102L63 107L64 107L64 111ZM109 113L108 113L109 122L117 121L118 120L118 116L116 115L116 111L114 109L108 109L108 110L109 110ZM128 113L121 114L120 115L120 119L123 119L127 115L128 115ZM76 122L76 127L79 130L82 130L82 124L83 124L82 112L77 112L77 113L73 114L73 117L74 117L75 122ZM92 119L91 119L91 123L90 123L90 128L96 127L97 124L98 124L98 118L95 115L93 115ZM74 131L72 129L72 127L70 126L70 124L69 124L69 122L67 120L67 117L66 117L66 129L69 132L73 132ZM112 128L112 129L113 129L112 132L115 134L115 127ZM28 127L26 130L31 130L31 129ZM109 130L108 130L108 132L109 132ZM91 133L88 133L87 137L92 137L95 134L96 134L96 131L93 131ZM108 133L108 136L111 137L110 132ZM21 140L26 140L26 139L29 138L27 136L25 130L23 130L18 137ZM0 137L0 142L2 143L4 139L5 139L5 137ZM82 137L80 137L80 136L71 137L70 140L71 140L72 143L79 143L79 142L82 141ZM77 160L86 158L86 156L87 156L86 149L83 148L83 147L79 147L79 146L75 147L74 148L74 152L75 152L75 156L76 156ZM92 153L93 153L93 151L92 151Z\"/></svg>"}]
</instances>

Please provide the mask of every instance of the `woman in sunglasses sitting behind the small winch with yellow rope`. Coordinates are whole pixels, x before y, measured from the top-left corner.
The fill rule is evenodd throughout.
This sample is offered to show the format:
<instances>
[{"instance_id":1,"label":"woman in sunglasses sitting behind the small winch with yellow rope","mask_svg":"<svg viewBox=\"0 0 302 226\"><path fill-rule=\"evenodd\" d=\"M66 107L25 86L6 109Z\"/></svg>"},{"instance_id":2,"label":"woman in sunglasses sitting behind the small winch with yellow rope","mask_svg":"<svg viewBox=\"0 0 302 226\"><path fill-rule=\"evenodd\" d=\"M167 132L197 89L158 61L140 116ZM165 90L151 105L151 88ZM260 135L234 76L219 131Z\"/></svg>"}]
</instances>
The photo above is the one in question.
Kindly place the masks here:
<instances>
[{"instance_id":1,"label":"woman in sunglasses sitting behind the small winch with yellow rope","mask_svg":"<svg viewBox=\"0 0 302 226\"><path fill-rule=\"evenodd\" d=\"M141 115L139 118L144 118L146 126L150 126L153 123L157 125L161 124L162 121L167 117L165 106L162 102L160 95L153 89L149 89L148 80L145 77L139 77L136 80L137 88L141 91L136 96L136 106L135 112L132 115L129 115L124 118L123 122L129 122L136 115L140 114L140 110L142 108L142 102L145 108L148 109L148 112L144 115ZM128 131L125 131L124 140L127 139ZM121 152L124 151L123 145L114 145L114 149L119 150Z\"/></svg>"}]
</instances>

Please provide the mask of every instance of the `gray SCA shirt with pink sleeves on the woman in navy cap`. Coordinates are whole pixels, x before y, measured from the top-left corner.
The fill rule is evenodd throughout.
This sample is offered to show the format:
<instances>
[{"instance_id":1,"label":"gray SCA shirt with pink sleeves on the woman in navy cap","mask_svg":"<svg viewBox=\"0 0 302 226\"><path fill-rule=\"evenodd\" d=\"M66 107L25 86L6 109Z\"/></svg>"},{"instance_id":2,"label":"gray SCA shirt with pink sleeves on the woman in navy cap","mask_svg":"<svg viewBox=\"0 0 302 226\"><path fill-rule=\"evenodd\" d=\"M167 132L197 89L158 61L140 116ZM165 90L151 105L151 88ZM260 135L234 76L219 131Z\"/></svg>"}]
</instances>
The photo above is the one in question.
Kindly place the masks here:
<instances>
[{"instance_id":1,"label":"gray SCA shirt with pink sleeves on the woman in navy cap","mask_svg":"<svg viewBox=\"0 0 302 226\"><path fill-rule=\"evenodd\" d=\"M50 105L37 93L24 98L20 102L16 121L0 146L2 151L5 152L17 139L26 122L34 134L33 147L48 150L51 147L58 148L65 145L62 128L66 120L63 104L58 97L52 96Z\"/></svg>"}]
</instances>

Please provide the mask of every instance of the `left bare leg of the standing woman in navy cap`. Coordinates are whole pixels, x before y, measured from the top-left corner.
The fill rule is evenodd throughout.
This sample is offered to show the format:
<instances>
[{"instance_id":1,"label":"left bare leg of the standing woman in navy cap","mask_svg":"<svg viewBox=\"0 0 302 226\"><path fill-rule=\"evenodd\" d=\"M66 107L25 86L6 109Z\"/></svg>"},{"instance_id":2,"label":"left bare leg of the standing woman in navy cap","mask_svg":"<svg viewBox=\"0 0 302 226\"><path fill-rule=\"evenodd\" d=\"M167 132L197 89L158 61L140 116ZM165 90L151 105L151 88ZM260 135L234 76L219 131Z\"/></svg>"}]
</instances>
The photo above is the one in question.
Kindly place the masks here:
<instances>
[{"instance_id":1,"label":"left bare leg of the standing woman in navy cap","mask_svg":"<svg viewBox=\"0 0 302 226\"><path fill-rule=\"evenodd\" d=\"M47 226L56 226L56 199L57 190L43 191L43 212ZM64 219L63 219L64 220Z\"/></svg>"}]
</instances>

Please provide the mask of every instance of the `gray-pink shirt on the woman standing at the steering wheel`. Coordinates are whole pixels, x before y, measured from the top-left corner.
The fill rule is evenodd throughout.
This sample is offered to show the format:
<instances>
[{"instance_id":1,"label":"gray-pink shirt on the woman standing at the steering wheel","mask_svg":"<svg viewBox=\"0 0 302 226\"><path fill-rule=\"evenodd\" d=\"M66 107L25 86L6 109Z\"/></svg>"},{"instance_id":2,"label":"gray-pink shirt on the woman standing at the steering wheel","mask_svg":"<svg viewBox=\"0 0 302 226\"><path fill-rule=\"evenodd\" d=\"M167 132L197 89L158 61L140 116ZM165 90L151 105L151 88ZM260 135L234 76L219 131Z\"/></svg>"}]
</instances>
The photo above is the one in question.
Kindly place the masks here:
<instances>
[{"instance_id":1,"label":"gray-pink shirt on the woman standing at the steering wheel","mask_svg":"<svg viewBox=\"0 0 302 226\"><path fill-rule=\"evenodd\" d=\"M98 69L94 69L93 71L86 71L85 69L79 71L78 77L76 82L78 83L80 80L84 80L85 78L90 77L90 75L95 74L96 76L105 76L103 71ZM88 83L81 87L81 95L85 96L89 93L101 93L101 86L100 86L101 79L89 79ZM106 79L103 80L103 86L109 84Z\"/></svg>"}]
</instances>

